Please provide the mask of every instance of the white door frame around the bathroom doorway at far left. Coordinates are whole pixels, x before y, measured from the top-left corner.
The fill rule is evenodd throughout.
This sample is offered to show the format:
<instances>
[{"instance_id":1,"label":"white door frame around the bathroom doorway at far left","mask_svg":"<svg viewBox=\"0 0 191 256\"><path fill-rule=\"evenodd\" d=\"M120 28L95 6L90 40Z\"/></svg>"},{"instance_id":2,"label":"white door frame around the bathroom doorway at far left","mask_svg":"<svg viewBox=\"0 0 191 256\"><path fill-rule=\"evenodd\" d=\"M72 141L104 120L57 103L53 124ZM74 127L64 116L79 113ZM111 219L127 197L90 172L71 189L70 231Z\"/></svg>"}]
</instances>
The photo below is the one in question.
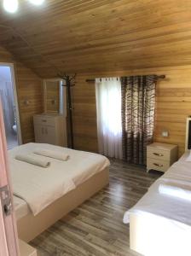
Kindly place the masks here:
<instances>
[{"instance_id":1,"label":"white door frame around the bathroom doorway at far left","mask_svg":"<svg viewBox=\"0 0 191 256\"><path fill-rule=\"evenodd\" d=\"M21 129L20 129L20 111L19 111L19 104L18 104L18 94L16 88L16 81L15 81L15 74L14 74L14 63L9 62L0 62L0 67L10 67L11 73L11 82L14 92L14 105L15 105L15 113L16 113L16 125L17 125L17 139L19 145L22 144L22 136L21 136Z\"/></svg>"}]
</instances>

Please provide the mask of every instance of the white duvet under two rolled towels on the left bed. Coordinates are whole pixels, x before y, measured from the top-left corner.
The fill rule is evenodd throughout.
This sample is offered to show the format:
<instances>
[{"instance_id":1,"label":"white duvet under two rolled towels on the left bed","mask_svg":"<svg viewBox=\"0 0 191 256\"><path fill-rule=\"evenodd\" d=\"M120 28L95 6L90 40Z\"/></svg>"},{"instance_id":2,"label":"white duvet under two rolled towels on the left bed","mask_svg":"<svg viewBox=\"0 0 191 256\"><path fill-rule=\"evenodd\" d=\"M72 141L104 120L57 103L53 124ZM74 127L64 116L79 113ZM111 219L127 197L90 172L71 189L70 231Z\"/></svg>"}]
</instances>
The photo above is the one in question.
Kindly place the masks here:
<instances>
[{"instance_id":1,"label":"white duvet under two rolled towels on the left bed","mask_svg":"<svg viewBox=\"0 0 191 256\"><path fill-rule=\"evenodd\" d=\"M36 148L62 150L70 155L70 159L49 158L51 164L48 168L14 159L16 154L31 154ZM109 166L109 160L100 154L39 143L28 143L9 150L9 163L14 195L25 200L34 215Z\"/></svg>"}]
</instances>

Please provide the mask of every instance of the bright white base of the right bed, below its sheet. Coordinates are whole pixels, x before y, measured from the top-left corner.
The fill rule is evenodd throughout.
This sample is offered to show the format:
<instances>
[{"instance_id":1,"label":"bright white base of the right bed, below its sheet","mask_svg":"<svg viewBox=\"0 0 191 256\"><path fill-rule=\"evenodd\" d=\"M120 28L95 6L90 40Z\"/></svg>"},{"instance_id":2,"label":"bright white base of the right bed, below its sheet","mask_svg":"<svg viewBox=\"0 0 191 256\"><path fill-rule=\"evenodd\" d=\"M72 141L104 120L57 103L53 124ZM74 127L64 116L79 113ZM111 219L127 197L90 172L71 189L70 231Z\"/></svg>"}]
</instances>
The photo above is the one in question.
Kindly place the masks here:
<instances>
[{"instance_id":1,"label":"bright white base of the right bed, below its sheet","mask_svg":"<svg viewBox=\"0 0 191 256\"><path fill-rule=\"evenodd\" d=\"M188 225L152 214L130 214L130 249L144 256L189 256L190 236Z\"/></svg>"}]
</instances>

